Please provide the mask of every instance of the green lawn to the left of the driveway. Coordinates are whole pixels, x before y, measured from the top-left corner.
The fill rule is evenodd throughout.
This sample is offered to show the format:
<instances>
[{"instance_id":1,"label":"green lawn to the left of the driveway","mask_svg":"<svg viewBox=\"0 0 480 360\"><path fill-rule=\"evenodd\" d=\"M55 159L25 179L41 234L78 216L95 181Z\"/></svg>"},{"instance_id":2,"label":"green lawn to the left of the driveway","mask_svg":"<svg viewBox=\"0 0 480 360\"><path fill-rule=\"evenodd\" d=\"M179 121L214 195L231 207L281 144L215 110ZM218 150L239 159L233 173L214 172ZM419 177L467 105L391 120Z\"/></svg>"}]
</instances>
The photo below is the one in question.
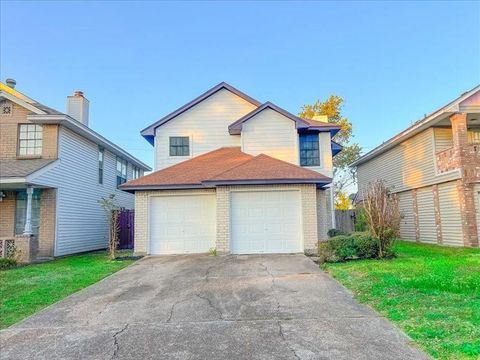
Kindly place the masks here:
<instances>
[{"instance_id":1,"label":"green lawn to the left of the driveway","mask_svg":"<svg viewBox=\"0 0 480 360\"><path fill-rule=\"evenodd\" d=\"M96 283L132 262L112 261L105 251L98 251L0 271L0 329Z\"/></svg>"}]
</instances>

